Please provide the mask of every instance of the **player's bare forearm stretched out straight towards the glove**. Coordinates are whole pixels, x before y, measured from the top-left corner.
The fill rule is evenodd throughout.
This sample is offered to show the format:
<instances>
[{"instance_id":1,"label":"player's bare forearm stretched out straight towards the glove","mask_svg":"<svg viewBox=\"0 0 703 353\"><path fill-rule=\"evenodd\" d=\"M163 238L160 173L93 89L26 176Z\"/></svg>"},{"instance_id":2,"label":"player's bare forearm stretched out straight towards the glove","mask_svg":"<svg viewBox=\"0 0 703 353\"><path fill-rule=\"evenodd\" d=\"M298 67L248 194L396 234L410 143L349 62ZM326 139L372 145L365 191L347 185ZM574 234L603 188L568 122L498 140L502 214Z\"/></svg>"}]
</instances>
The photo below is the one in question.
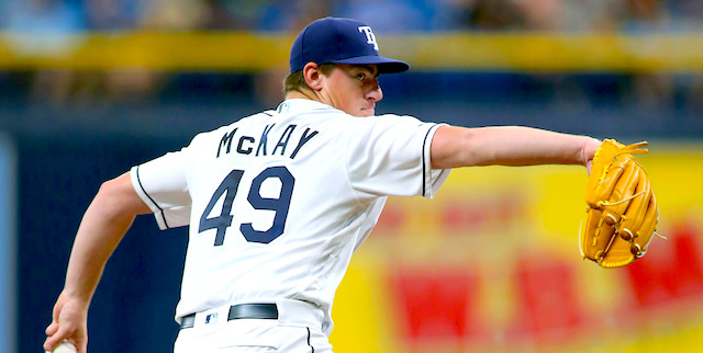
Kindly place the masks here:
<instances>
[{"instance_id":1,"label":"player's bare forearm stretched out straight towards the glove","mask_svg":"<svg viewBox=\"0 0 703 353\"><path fill-rule=\"evenodd\" d=\"M590 171L601 141L523 126L440 126L432 140L432 168L582 164Z\"/></svg>"}]
</instances>

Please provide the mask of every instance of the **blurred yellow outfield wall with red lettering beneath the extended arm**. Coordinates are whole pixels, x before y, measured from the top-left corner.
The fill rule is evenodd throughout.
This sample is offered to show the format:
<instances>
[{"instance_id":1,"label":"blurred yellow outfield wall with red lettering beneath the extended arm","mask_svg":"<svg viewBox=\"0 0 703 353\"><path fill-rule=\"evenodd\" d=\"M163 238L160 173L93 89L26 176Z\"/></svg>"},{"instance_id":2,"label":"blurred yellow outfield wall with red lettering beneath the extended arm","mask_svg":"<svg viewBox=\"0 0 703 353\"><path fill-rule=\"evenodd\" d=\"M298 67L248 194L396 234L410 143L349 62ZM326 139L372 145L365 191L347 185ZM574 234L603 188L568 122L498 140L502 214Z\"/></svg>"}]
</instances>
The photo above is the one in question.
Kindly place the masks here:
<instances>
[{"instance_id":1,"label":"blurred yellow outfield wall with red lettering beneath the extended arm","mask_svg":"<svg viewBox=\"0 0 703 353\"><path fill-rule=\"evenodd\" d=\"M390 198L337 292L335 352L696 349L703 143L650 150L668 239L624 269L580 258L581 167L459 169L435 200Z\"/></svg>"}]
</instances>

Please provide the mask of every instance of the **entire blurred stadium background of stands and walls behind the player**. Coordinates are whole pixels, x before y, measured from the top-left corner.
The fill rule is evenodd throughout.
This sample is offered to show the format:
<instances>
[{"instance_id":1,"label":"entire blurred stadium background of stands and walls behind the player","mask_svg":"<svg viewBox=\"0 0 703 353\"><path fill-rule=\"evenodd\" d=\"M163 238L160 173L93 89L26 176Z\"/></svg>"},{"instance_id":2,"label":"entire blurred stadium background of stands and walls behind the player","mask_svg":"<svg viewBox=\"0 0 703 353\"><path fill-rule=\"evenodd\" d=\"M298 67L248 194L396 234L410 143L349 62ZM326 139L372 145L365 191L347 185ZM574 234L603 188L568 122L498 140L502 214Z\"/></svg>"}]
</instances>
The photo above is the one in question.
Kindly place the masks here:
<instances>
[{"instance_id":1,"label":"entire blurred stadium background of stands and walls behind the player","mask_svg":"<svg viewBox=\"0 0 703 353\"><path fill-rule=\"evenodd\" d=\"M310 21L369 23L411 72L380 113L648 139L660 232L621 270L581 262L578 167L457 170L389 201L337 294L345 352L694 351L703 335L699 0L0 1L0 351L41 352L100 183L275 107ZM111 259L91 352L168 352L186 229L150 217Z\"/></svg>"}]
</instances>

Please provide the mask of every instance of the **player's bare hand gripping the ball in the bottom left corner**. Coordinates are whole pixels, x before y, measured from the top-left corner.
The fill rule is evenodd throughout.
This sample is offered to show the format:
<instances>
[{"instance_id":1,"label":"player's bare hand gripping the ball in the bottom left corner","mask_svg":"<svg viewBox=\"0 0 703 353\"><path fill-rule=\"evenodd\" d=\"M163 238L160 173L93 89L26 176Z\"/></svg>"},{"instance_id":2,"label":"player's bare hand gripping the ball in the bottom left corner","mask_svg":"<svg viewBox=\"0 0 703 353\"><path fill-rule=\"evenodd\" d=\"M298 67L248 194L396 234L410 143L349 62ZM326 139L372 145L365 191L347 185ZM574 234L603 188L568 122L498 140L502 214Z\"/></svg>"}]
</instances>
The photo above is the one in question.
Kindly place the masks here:
<instances>
[{"instance_id":1,"label":"player's bare hand gripping the ball in the bottom left corner","mask_svg":"<svg viewBox=\"0 0 703 353\"><path fill-rule=\"evenodd\" d=\"M69 340L78 353L88 346L88 303L71 298L63 292L54 305L52 323L46 328L44 350L52 352L60 342Z\"/></svg>"}]
</instances>

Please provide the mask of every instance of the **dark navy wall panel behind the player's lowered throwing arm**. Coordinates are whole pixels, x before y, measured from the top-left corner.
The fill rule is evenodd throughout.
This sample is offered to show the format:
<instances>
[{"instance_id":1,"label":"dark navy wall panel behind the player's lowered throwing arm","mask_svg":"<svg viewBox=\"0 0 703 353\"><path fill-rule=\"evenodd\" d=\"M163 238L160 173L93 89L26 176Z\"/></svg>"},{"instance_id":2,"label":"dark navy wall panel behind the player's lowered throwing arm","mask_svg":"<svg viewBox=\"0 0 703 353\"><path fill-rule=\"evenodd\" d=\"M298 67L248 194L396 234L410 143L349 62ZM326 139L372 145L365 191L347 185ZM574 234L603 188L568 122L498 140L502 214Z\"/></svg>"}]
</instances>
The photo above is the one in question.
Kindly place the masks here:
<instances>
[{"instance_id":1,"label":"dark navy wall panel behind the player's lowered throwing arm","mask_svg":"<svg viewBox=\"0 0 703 353\"><path fill-rule=\"evenodd\" d=\"M37 352L51 322L76 229L101 181L160 151L129 140L20 144L19 352ZM110 259L89 312L90 352L168 352L186 228L137 217Z\"/></svg>"}]
</instances>

